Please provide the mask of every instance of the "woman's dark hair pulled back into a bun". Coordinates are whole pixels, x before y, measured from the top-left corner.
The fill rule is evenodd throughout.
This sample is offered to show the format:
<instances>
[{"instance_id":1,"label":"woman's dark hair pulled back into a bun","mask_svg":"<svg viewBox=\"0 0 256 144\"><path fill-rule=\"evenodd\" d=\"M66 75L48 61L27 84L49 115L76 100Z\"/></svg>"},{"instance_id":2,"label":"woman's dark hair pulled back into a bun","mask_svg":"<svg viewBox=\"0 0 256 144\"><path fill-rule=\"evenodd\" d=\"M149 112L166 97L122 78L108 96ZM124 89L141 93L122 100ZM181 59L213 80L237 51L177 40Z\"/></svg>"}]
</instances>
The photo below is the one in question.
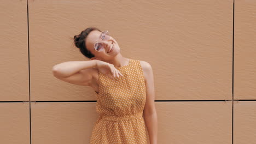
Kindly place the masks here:
<instances>
[{"instance_id":1,"label":"woman's dark hair pulled back into a bun","mask_svg":"<svg viewBox=\"0 0 256 144\"><path fill-rule=\"evenodd\" d=\"M74 36L74 44L75 46L80 49L80 52L82 52L82 54L88 58L92 58L94 57L94 54L92 54L87 48L86 48L86 45L85 45L85 41L86 41L86 37L88 36L88 34L91 32L91 31L100 31L100 29L96 28L96 27L88 27L86 28L84 31L82 31L80 34L78 35L75 35Z\"/></svg>"}]
</instances>

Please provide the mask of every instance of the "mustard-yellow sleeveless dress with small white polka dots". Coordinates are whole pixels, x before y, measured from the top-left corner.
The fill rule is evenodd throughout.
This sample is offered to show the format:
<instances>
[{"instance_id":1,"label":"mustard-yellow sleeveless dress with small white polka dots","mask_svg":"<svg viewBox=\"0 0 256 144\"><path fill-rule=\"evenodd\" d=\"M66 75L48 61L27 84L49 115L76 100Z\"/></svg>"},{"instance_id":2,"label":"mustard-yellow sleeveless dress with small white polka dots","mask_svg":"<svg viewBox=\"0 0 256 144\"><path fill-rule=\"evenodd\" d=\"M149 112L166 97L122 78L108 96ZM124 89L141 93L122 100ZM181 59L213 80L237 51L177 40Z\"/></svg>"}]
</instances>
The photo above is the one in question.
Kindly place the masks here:
<instances>
[{"instance_id":1,"label":"mustard-yellow sleeveless dress with small white polka dots","mask_svg":"<svg viewBox=\"0 0 256 144\"><path fill-rule=\"evenodd\" d=\"M98 71L99 92L90 144L146 144L146 125L143 117L146 104L146 85L139 60L117 68L123 76L115 80Z\"/></svg>"}]
</instances>

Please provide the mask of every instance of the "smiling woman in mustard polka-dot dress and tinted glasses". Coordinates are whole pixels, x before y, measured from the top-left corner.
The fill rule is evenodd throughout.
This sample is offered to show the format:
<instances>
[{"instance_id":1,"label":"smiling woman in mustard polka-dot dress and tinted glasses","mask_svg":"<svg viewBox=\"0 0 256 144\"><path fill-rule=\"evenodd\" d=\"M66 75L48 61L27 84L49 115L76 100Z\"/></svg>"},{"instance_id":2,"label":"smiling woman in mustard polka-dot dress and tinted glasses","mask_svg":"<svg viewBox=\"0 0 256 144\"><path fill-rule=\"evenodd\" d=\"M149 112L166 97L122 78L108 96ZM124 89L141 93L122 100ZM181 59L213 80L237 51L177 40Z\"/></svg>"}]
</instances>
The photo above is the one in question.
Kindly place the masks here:
<instances>
[{"instance_id":1,"label":"smiling woman in mustard polka-dot dress and tinted glasses","mask_svg":"<svg viewBox=\"0 0 256 144\"><path fill-rule=\"evenodd\" d=\"M90 144L147 143L145 125L150 144L155 144L158 121L150 64L123 57L109 32L96 27L75 35L74 44L91 61L57 64L53 74L60 80L94 89L100 117L94 124Z\"/></svg>"}]
</instances>

